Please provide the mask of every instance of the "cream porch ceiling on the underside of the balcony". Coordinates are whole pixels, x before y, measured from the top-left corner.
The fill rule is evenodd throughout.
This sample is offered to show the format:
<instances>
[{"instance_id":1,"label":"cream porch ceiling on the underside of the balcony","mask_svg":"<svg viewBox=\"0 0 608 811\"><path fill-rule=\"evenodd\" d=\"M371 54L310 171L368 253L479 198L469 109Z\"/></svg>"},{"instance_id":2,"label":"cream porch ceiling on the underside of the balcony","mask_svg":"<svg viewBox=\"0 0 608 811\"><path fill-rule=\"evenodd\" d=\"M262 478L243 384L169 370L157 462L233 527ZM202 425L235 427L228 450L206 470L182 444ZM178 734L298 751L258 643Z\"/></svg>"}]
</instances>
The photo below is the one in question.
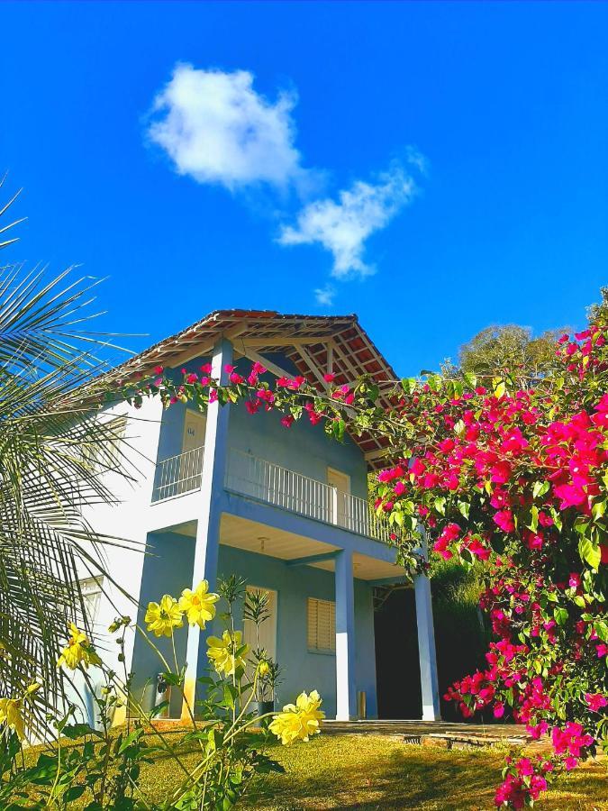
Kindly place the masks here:
<instances>
[{"instance_id":1,"label":"cream porch ceiling on the underside of the balcony","mask_svg":"<svg viewBox=\"0 0 608 811\"><path fill-rule=\"evenodd\" d=\"M220 543L279 560L299 560L339 549L331 543L315 541L304 535L288 533L266 524L258 524L247 518L227 514L222 515ZM305 565L327 571L333 571L335 568L333 560L318 560ZM377 560L355 552L353 554L353 574L361 580L382 580L404 577L404 570L395 563Z\"/></svg>"}]
</instances>

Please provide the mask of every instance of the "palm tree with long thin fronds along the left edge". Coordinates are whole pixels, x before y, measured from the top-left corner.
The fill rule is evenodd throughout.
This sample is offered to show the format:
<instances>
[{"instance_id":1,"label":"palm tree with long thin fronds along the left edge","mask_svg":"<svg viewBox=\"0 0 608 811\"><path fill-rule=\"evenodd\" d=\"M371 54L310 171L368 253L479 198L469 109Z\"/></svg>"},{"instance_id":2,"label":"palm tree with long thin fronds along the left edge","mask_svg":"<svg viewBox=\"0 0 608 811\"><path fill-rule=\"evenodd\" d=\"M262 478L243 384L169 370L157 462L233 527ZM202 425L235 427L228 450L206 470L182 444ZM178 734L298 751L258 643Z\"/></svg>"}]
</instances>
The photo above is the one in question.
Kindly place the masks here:
<instances>
[{"instance_id":1,"label":"palm tree with long thin fronds along the left edge","mask_svg":"<svg viewBox=\"0 0 608 811\"><path fill-rule=\"evenodd\" d=\"M129 475L116 425L95 407L107 368L96 355L110 345L87 329L95 284L71 269L47 280L44 269L0 268L0 696L40 681L39 711L62 693L68 622L86 624L78 566L98 571L98 544L116 542L82 508L113 500L107 469Z\"/></svg>"}]
</instances>

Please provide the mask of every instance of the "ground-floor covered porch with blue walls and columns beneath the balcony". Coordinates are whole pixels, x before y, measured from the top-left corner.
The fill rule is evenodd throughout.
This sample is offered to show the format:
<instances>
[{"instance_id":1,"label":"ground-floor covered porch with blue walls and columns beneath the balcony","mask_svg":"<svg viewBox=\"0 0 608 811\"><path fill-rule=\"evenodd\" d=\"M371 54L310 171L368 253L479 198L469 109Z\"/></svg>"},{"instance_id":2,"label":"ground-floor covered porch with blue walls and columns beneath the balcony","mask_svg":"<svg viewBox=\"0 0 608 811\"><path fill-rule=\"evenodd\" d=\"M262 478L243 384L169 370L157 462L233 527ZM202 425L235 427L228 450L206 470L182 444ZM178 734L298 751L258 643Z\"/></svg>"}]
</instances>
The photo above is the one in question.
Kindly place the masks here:
<instances>
[{"instance_id":1,"label":"ground-floor covered porch with blue walls and columns beneath the balcony","mask_svg":"<svg viewBox=\"0 0 608 811\"><path fill-rule=\"evenodd\" d=\"M177 592L189 585L196 535L196 521L150 533L152 555L144 566L142 604L158 599L159 591L173 588ZM212 588L213 580L235 574L248 586L271 594L273 616L264 645L284 670L277 706L293 701L302 690L318 689L330 718L377 718L374 597L378 586L404 580L394 548L226 493L216 560L215 577L207 575ZM159 588L169 572L171 585ZM440 706L428 580L417 579L414 589L420 655L411 666L420 668L422 716L435 720ZM238 627L244 627L249 642L246 624ZM215 621L209 633L222 633L221 624ZM190 669L191 679L203 675L207 666L204 634L189 629L187 639L185 632L177 642L180 657L190 661L186 650L193 649L193 636L197 667L195 673ZM136 652L140 661L135 670L146 672L142 656L145 659L144 651ZM171 714L177 716L179 709L173 702Z\"/></svg>"}]
</instances>

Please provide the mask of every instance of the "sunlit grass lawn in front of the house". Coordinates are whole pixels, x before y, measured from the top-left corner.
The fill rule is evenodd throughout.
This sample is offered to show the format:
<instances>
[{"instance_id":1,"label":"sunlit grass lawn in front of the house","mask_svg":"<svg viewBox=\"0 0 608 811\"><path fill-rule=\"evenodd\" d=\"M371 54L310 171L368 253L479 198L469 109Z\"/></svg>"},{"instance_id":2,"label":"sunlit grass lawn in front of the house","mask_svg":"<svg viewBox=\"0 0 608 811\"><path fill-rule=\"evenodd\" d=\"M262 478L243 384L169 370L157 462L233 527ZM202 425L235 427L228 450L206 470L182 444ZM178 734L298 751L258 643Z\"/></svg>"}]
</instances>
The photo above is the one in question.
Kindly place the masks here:
<instances>
[{"instance_id":1,"label":"sunlit grass lawn in front of the house","mask_svg":"<svg viewBox=\"0 0 608 811\"><path fill-rule=\"evenodd\" d=\"M317 808L419 808L422 811L481 811L494 808L502 753L447 752L404 744L379 735L320 735L310 743L273 746L286 768L256 785L240 807L267 811ZM185 760L195 753L185 754ZM608 811L605 761L561 779L539 802L559 811ZM142 774L142 788L159 797L175 784L174 765L160 758Z\"/></svg>"}]
</instances>

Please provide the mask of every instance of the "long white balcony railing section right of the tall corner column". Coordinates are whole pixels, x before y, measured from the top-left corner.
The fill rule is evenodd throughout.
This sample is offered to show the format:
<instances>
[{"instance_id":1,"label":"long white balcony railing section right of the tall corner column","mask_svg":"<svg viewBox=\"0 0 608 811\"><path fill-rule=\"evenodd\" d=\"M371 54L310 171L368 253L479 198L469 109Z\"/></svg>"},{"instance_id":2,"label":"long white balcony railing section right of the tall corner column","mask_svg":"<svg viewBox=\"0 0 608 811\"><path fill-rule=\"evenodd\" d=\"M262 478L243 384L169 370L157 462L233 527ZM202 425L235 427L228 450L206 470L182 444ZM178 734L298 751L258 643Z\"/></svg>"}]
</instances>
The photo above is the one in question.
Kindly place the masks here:
<instances>
[{"instance_id":1,"label":"long white balcony railing section right of the tall corner column","mask_svg":"<svg viewBox=\"0 0 608 811\"><path fill-rule=\"evenodd\" d=\"M325 524L337 524L358 535L389 540L388 526L377 518L365 498L350 496L250 453L229 451L226 488Z\"/></svg>"}]
</instances>

